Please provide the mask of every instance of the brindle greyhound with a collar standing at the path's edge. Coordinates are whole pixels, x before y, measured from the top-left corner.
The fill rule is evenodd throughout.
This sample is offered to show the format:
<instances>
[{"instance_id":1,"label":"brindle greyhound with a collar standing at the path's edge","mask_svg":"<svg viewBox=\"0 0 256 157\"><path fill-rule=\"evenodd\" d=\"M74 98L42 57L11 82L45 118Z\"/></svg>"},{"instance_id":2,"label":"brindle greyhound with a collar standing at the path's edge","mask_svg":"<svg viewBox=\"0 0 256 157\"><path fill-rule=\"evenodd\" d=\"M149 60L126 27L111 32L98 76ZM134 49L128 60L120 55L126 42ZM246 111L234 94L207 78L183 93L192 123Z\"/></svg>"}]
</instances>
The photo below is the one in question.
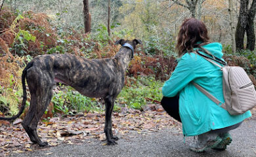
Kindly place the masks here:
<instances>
[{"instance_id":1,"label":"brindle greyhound with a collar standing at the path's edge","mask_svg":"<svg viewBox=\"0 0 256 157\"><path fill-rule=\"evenodd\" d=\"M142 44L140 40L125 41L119 52L112 58L88 60L71 54L46 54L37 56L25 67L22 73L23 101L18 114L12 117L0 117L0 120L14 120L18 118L26 104L26 84L30 89L30 109L26 114L22 126L28 133L30 140L40 146L42 142L37 135L37 123L47 109L53 96L53 86L62 82L72 86L88 97L103 97L106 105L104 132L108 145L116 145L118 137L112 133L112 111L114 101L121 92L125 82L125 71L129 61L133 58L135 46Z\"/></svg>"}]
</instances>

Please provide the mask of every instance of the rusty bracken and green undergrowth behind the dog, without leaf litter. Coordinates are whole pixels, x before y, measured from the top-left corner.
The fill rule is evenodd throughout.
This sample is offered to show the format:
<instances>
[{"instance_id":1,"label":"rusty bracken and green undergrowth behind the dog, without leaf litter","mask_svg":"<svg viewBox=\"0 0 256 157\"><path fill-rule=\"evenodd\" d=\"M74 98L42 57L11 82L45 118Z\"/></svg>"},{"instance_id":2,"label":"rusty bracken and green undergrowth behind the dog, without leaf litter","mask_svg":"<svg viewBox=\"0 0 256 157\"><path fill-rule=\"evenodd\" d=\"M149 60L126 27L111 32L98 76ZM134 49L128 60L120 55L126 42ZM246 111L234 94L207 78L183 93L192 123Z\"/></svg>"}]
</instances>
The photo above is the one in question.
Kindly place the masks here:
<instances>
[{"instance_id":1,"label":"rusty bracken and green undergrowth behind the dog, without leaf litter","mask_svg":"<svg viewBox=\"0 0 256 157\"><path fill-rule=\"evenodd\" d=\"M51 18L43 13L28 11L18 14L8 9L1 10L0 115L11 116L18 112L22 99L22 69L35 56L70 53L90 59L112 57L120 48L114 45L117 39L133 39L131 35L123 35L123 31L114 34L113 37L108 37L105 26L98 29L95 34L85 34L72 28L53 26ZM153 41L142 41L145 44L135 50L135 58L131 60L127 69L125 87L117 97L114 111L120 111L121 107L142 111L148 103L161 100L160 88L163 81L169 79L177 63L174 49L163 50ZM173 47L175 46L168 48ZM244 67L256 84L255 52L243 51L232 54L228 46L225 52L224 58L228 64ZM29 101L30 96L26 110ZM89 111L104 111L102 99L82 96L74 89L58 84L54 88L53 100L44 118Z\"/></svg>"}]
</instances>

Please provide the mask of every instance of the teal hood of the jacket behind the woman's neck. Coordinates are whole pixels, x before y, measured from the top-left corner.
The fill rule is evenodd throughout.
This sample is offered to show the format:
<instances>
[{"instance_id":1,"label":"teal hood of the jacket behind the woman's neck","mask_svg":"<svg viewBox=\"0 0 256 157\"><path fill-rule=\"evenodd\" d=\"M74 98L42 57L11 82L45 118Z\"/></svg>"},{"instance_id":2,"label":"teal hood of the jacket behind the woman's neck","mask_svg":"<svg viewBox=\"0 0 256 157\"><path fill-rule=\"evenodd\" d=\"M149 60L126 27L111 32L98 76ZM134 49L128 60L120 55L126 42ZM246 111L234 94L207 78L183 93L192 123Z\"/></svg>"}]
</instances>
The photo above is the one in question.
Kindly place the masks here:
<instances>
[{"instance_id":1,"label":"teal hood of the jacket behind the woman's neck","mask_svg":"<svg viewBox=\"0 0 256 157\"><path fill-rule=\"evenodd\" d=\"M205 44L202 47L211 52L211 54L213 54L213 56L217 58L223 57L223 46L221 45L221 43L209 43Z\"/></svg>"}]
</instances>

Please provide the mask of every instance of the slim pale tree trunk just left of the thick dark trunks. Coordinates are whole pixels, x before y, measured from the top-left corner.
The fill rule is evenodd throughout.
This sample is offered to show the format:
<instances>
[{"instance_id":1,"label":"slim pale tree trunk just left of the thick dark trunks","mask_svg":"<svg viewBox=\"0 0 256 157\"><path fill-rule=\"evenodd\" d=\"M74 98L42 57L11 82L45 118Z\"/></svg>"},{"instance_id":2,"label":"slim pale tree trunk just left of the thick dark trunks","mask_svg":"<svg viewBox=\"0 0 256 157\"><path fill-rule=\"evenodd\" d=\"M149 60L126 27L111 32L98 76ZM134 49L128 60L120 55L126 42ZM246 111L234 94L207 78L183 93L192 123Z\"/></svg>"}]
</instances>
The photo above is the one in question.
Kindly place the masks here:
<instances>
[{"instance_id":1,"label":"slim pale tree trunk just left of the thick dark trunks","mask_svg":"<svg viewBox=\"0 0 256 157\"><path fill-rule=\"evenodd\" d=\"M228 12L230 14L230 27L231 27L231 39L232 39L232 52L236 52L236 28L234 27L234 7L233 7L233 1L228 0Z\"/></svg>"}]
</instances>

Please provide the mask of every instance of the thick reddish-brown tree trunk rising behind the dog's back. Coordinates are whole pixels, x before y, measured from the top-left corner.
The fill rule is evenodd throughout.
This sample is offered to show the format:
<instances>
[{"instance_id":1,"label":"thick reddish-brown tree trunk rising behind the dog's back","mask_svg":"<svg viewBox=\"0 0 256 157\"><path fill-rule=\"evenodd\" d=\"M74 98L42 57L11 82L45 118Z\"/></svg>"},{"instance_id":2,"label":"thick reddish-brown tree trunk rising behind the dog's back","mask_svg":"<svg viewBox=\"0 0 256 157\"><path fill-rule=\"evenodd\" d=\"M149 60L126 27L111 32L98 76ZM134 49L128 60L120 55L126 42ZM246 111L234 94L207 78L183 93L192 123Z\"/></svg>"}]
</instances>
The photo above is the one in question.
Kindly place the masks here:
<instances>
[{"instance_id":1,"label":"thick reddish-brown tree trunk rising behind the dog's back","mask_svg":"<svg viewBox=\"0 0 256 157\"><path fill-rule=\"evenodd\" d=\"M91 31L91 14L89 12L89 1L83 0L83 24L85 26L85 33Z\"/></svg>"}]
</instances>

